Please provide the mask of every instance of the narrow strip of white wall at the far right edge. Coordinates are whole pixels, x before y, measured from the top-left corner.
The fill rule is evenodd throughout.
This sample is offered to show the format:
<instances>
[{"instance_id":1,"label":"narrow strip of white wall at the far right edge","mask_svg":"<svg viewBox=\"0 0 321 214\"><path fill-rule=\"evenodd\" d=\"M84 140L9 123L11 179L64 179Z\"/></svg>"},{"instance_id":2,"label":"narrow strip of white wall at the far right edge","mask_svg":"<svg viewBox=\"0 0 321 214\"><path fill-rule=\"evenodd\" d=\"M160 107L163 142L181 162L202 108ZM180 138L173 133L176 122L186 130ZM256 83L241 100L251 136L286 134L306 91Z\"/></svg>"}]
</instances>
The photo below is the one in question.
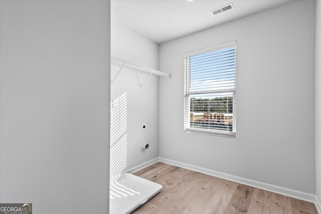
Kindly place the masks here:
<instances>
[{"instance_id":1,"label":"narrow strip of white wall at the far right edge","mask_svg":"<svg viewBox=\"0 0 321 214\"><path fill-rule=\"evenodd\" d=\"M316 1L315 15L315 185L321 211L321 2Z\"/></svg>"}]
</instances>

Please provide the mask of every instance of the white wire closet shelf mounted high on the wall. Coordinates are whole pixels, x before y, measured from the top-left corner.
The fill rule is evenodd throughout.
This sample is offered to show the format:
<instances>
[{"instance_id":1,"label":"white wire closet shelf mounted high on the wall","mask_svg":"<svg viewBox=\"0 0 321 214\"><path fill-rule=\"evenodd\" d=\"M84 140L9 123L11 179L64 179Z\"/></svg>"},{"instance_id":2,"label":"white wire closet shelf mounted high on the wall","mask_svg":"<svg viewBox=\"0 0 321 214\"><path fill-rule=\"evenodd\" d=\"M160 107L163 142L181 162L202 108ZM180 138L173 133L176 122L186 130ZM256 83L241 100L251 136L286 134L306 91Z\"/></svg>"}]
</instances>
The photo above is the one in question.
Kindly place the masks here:
<instances>
[{"instance_id":1,"label":"white wire closet shelf mounted high on the wall","mask_svg":"<svg viewBox=\"0 0 321 214\"><path fill-rule=\"evenodd\" d=\"M129 69L133 69L135 71L145 72L145 73L156 75L156 76L171 77L171 74L167 74L167 73L164 73L164 72L161 72L161 71L157 71L155 69L147 68L147 67L144 67L144 66L135 65L135 64L132 64L132 63L127 62L125 60L119 59L117 57L113 57L113 56L111 57L111 64L117 65L117 66L121 66L121 67L125 67L125 68L129 68Z\"/></svg>"}]
</instances>

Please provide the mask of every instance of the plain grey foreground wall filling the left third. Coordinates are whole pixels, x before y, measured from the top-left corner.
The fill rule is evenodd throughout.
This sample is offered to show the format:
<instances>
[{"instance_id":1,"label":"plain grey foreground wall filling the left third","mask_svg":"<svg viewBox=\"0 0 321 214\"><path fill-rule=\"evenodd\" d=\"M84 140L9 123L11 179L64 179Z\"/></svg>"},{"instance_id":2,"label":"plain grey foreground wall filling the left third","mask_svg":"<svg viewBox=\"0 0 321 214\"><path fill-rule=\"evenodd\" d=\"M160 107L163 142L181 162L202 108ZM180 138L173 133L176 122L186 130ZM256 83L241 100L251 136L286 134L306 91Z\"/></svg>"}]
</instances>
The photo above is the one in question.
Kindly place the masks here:
<instances>
[{"instance_id":1,"label":"plain grey foreground wall filling the left third","mask_svg":"<svg viewBox=\"0 0 321 214\"><path fill-rule=\"evenodd\" d=\"M1 202L108 213L109 1L1 1Z\"/></svg>"}]
</instances>

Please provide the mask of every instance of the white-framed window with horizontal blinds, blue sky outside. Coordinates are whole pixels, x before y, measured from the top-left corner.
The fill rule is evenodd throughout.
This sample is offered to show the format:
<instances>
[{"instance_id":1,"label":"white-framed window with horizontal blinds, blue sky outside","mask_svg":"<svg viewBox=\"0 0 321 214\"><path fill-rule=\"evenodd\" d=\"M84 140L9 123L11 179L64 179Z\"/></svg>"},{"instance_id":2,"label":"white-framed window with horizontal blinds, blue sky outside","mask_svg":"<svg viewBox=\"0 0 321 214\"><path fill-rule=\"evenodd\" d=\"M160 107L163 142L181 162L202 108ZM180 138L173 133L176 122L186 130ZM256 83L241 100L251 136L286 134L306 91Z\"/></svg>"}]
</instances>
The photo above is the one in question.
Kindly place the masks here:
<instances>
[{"instance_id":1,"label":"white-framed window with horizontal blinds, blue sky outside","mask_svg":"<svg viewBox=\"0 0 321 214\"><path fill-rule=\"evenodd\" d=\"M185 54L185 131L235 137L236 41Z\"/></svg>"}]
</instances>

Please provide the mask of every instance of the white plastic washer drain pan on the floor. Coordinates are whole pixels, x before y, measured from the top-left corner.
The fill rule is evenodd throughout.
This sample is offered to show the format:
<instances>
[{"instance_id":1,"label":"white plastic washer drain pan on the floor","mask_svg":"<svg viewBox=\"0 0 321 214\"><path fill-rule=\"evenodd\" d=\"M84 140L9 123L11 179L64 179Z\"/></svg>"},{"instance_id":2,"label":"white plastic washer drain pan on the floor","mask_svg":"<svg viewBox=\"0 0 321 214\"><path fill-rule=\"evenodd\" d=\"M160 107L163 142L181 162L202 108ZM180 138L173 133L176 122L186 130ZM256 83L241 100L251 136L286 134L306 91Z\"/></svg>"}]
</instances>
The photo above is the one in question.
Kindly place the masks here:
<instances>
[{"instance_id":1,"label":"white plastic washer drain pan on the floor","mask_svg":"<svg viewBox=\"0 0 321 214\"><path fill-rule=\"evenodd\" d=\"M157 194L163 186L133 174L123 173L111 180L110 214L130 213Z\"/></svg>"}]
</instances>

